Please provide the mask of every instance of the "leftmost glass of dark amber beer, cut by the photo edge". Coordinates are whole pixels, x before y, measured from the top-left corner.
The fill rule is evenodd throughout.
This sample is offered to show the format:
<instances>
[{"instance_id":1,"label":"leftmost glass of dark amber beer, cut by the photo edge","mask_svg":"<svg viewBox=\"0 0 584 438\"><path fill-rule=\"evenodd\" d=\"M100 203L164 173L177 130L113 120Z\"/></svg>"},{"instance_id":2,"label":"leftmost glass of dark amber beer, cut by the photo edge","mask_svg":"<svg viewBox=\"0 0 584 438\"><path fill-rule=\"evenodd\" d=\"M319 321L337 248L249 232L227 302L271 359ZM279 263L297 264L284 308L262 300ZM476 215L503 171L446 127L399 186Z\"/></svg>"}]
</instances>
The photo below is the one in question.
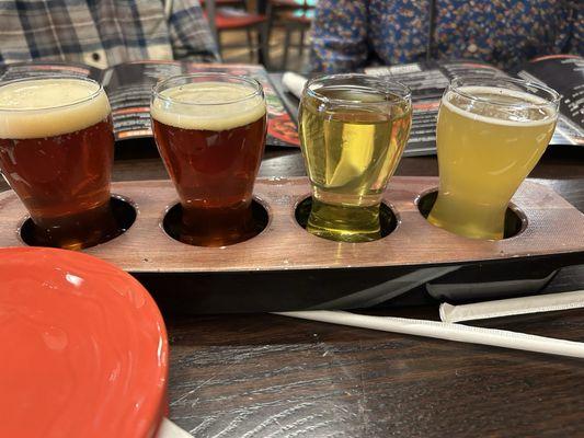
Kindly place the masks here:
<instances>
[{"instance_id":1,"label":"leftmost glass of dark amber beer, cut by the photo edge","mask_svg":"<svg viewBox=\"0 0 584 438\"><path fill-rule=\"evenodd\" d=\"M110 104L98 82L47 77L0 83L0 169L41 244L78 250L116 232L113 146Z\"/></svg>"}]
</instances>

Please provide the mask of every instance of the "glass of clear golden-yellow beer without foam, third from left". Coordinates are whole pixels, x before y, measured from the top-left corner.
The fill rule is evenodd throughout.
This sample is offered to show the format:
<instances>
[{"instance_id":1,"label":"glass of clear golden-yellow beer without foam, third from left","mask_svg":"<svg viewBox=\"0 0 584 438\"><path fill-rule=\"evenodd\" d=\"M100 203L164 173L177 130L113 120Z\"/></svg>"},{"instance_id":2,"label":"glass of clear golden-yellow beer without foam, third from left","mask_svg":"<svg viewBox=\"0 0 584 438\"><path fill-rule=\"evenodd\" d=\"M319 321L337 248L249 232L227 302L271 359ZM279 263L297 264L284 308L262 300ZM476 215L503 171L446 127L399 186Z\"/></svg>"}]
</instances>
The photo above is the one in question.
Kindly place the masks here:
<instances>
[{"instance_id":1,"label":"glass of clear golden-yellow beer without foam, third from left","mask_svg":"<svg viewBox=\"0 0 584 438\"><path fill-rule=\"evenodd\" d=\"M406 87L363 74L308 82L300 139L312 185L307 230L346 242L380 238L379 206L410 132Z\"/></svg>"}]
</instances>

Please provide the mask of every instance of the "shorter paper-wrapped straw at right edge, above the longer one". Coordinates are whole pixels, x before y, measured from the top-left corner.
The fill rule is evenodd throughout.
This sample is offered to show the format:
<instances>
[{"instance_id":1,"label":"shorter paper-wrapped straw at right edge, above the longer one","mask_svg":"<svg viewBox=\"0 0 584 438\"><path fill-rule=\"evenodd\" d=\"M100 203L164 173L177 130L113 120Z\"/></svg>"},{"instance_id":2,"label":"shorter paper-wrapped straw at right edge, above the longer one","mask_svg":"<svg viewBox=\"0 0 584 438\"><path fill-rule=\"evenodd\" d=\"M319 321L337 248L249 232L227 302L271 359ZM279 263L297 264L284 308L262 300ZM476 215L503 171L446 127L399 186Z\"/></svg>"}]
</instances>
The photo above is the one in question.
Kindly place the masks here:
<instances>
[{"instance_id":1,"label":"shorter paper-wrapped straw at right edge, above the longer one","mask_svg":"<svg viewBox=\"0 0 584 438\"><path fill-rule=\"evenodd\" d=\"M443 303L440 304L440 320L445 322L476 321L580 308L584 308L584 290L509 298L473 304Z\"/></svg>"}]
</instances>

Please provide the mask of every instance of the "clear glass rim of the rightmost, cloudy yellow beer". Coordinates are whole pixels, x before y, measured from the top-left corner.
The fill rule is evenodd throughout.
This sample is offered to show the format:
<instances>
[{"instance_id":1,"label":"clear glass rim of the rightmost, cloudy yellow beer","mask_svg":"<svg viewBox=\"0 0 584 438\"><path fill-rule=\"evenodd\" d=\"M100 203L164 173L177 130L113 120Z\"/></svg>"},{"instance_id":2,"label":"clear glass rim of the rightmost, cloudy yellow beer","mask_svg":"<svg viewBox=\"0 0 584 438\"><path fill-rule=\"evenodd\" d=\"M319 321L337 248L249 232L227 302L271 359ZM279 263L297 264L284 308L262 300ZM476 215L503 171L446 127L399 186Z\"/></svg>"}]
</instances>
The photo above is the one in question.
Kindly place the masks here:
<instances>
[{"instance_id":1,"label":"clear glass rim of the rightmost, cloudy yellow beer","mask_svg":"<svg viewBox=\"0 0 584 438\"><path fill-rule=\"evenodd\" d=\"M467 92L460 90L460 88L465 88L465 87L495 87L495 85L488 84L488 83L477 83L477 84L461 84L460 83L460 82L468 81L468 80L484 81L484 82L503 81L503 82L513 83L513 84L516 84L516 85L520 85L523 88L520 90L522 92L524 92L526 94L529 94L529 95L531 95L534 97L542 99L545 102L542 102L542 103L537 103L537 102L508 103L508 102L499 102L499 101L493 101L493 100L489 100L489 99L485 99L485 97L477 96L477 95L473 95L471 93L467 93ZM534 94L534 93L531 93L528 90L529 88L536 89L538 91L542 91L542 92L547 93L548 96L539 96L537 94ZM533 107L533 108L540 108L540 107L547 107L547 106L558 106L559 103L560 103L560 100L561 100L560 93L558 93L552 88L550 88L548 85L545 85L545 84L541 84L541 83L537 83L537 82L534 82L534 81L530 81L530 80L526 80L526 79L506 78L506 77L492 77L492 76L481 76L481 74L457 76L457 77L453 78L453 80L448 83L448 87L447 87L446 90L449 91L449 92L451 91L451 92L454 92L456 94L459 94L462 97L469 99L471 101L484 102L484 103L488 103L490 105L497 105L497 106L504 106L504 107L517 107L517 108ZM511 91L514 91L514 90L511 90Z\"/></svg>"}]
</instances>

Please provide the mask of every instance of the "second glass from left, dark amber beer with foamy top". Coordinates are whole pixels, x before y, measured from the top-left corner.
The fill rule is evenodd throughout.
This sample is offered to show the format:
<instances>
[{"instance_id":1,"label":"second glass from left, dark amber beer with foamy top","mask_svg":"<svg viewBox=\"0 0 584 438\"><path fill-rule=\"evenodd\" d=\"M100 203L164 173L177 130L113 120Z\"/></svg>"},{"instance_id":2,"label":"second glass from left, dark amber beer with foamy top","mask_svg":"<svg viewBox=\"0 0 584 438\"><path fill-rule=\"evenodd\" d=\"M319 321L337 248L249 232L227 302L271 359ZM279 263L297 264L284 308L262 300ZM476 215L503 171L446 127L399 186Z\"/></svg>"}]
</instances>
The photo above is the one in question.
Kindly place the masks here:
<instances>
[{"instance_id":1,"label":"second glass from left, dark amber beer with foamy top","mask_svg":"<svg viewBox=\"0 0 584 438\"><path fill-rule=\"evenodd\" d=\"M179 239L202 246L249 239L266 135L260 83L224 73L172 77L154 88L150 110L182 205Z\"/></svg>"}]
</instances>

